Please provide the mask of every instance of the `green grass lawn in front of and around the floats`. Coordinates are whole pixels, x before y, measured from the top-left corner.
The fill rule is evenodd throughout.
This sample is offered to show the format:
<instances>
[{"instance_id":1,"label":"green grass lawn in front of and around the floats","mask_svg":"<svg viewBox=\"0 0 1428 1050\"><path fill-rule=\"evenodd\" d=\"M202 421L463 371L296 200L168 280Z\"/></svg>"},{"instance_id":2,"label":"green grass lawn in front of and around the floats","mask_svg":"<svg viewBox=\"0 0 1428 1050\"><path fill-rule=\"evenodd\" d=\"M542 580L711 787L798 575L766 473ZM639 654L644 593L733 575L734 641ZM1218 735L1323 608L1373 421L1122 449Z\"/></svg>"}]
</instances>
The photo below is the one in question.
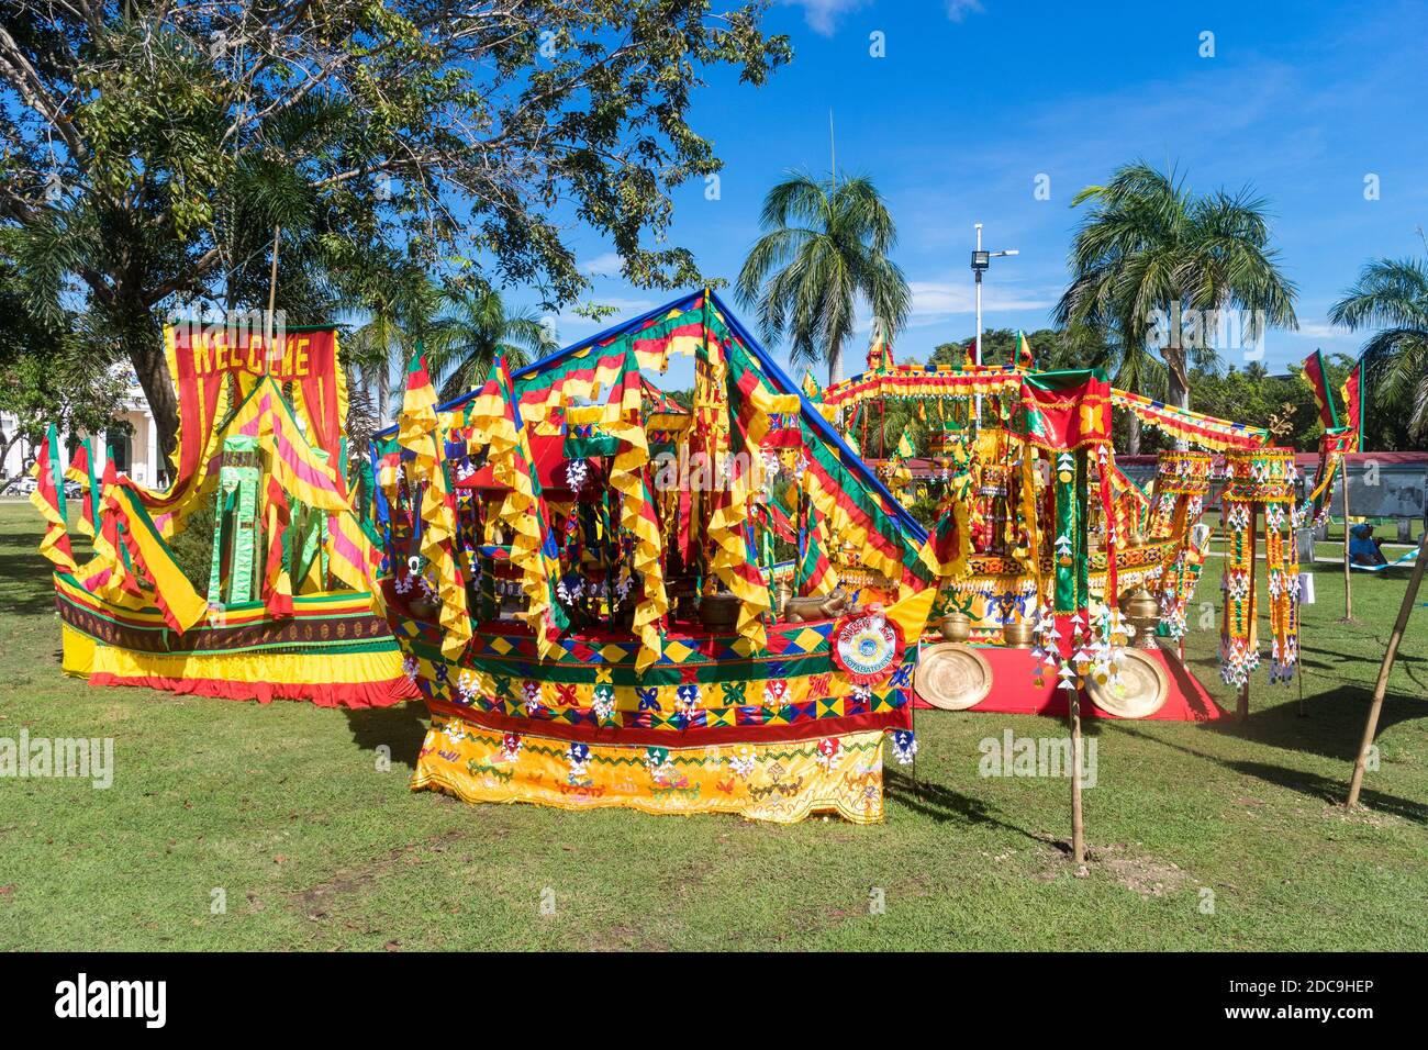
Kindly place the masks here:
<instances>
[{"instance_id":1,"label":"green grass lawn in front of and around the floats","mask_svg":"<svg viewBox=\"0 0 1428 1050\"><path fill-rule=\"evenodd\" d=\"M0 780L4 949L1428 946L1428 609L1368 809L1337 804L1405 571L1355 577L1362 623L1344 626L1339 573L1318 569L1302 716L1298 683L1261 670L1244 727L1092 720L1078 873L1065 780L977 774L981 739L1057 736L1057 720L918 713L921 790L891 766L871 827L466 806L407 790L420 704L263 707L64 677L39 536L29 506L0 506L0 737L113 737L117 771L109 790ZM1218 599L1218 573L1211 559L1198 597ZM1188 654L1232 706L1217 637L1194 631Z\"/></svg>"}]
</instances>

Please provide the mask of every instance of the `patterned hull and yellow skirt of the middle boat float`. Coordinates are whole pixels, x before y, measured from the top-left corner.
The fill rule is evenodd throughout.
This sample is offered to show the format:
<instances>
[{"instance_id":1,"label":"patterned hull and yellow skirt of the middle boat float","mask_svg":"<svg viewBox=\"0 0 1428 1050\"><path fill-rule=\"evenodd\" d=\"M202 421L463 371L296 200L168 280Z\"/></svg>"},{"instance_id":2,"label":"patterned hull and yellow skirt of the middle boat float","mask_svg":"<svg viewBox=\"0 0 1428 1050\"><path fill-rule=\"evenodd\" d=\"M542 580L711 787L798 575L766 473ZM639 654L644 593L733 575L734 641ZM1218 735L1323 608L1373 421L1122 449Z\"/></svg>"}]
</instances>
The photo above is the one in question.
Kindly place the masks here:
<instances>
[{"instance_id":1,"label":"patterned hull and yellow skirt of the middle boat float","mask_svg":"<svg viewBox=\"0 0 1428 1050\"><path fill-rule=\"evenodd\" d=\"M411 786L466 801L878 821L884 736L900 763L917 751L911 681L934 597L771 624L761 647L671 633L644 671L628 634L571 634L541 660L524 626L491 623L453 663L433 624L396 619L431 710Z\"/></svg>"}]
</instances>

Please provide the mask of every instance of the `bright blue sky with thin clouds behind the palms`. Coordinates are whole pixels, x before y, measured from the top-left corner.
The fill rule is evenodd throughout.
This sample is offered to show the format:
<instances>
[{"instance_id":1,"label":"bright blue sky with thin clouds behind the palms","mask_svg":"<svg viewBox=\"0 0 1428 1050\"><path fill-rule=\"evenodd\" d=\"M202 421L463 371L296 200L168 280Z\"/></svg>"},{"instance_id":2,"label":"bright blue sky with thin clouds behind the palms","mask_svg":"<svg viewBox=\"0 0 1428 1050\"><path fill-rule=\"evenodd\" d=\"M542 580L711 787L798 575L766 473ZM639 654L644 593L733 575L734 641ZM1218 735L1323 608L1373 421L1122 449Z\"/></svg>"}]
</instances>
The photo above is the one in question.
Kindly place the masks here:
<instances>
[{"instance_id":1,"label":"bright blue sky with thin clouds behind the palms","mask_svg":"<svg viewBox=\"0 0 1428 1050\"><path fill-rule=\"evenodd\" d=\"M718 200L703 183L675 193L673 240L733 280L767 189L787 169L827 171L831 109L840 170L871 176L898 224L894 259L914 291L900 359L971 334L975 221L988 247L1021 253L994 263L985 326L1047 326L1071 197L1137 157L1175 164L1198 191L1248 183L1268 199L1299 287L1299 330L1267 337L1274 371L1314 347L1355 351L1362 337L1332 329L1328 306L1369 257L1424 254L1422 4L783 0L767 29L793 37L794 61L763 89L721 73L697 96L694 126L725 169ZM1200 54L1207 31L1212 57ZM870 53L874 33L885 57ZM1050 200L1034 197L1038 174ZM607 244L573 237L595 301L628 316L673 297L631 290ZM558 321L563 343L597 327ZM685 373L674 366L667 384Z\"/></svg>"}]
</instances>

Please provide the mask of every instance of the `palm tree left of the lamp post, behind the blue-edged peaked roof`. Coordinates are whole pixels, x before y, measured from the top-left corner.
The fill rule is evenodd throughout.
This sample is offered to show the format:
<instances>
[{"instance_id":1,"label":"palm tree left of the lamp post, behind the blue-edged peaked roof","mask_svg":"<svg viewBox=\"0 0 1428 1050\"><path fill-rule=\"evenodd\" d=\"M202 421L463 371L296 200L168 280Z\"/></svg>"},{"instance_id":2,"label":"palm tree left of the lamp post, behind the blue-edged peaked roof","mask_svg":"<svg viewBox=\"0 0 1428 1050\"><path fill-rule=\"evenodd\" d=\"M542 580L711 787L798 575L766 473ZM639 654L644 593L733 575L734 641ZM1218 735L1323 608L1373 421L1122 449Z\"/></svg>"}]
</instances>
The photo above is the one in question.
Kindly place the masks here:
<instances>
[{"instance_id":1,"label":"palm tree left of the lamp post, behind the blue-edged peaked roof","mask_svg":"<svg viewBox=\"0 0 1428 1050\"><path fill-rule=\"evenodd\" d=\"M907 323L912 296L888 259L897 227L867 177L793 171L764 197L760 226L738 297L757 304L765 339L787 340L794 364L825 360L828 381L841 379L860 296L890 340Z\"/></svg>"}]
</instances>

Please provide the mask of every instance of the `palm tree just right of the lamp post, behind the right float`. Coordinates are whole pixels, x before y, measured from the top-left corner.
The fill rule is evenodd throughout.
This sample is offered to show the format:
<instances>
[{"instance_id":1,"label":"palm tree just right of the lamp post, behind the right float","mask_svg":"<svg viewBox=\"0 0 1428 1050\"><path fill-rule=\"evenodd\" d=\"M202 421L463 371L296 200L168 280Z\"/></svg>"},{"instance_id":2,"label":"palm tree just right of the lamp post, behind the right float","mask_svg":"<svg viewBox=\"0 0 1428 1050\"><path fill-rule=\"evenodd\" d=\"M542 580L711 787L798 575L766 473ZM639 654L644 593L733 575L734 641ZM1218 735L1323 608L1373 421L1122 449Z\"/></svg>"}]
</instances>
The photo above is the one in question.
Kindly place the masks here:
<instances>
[{"instance_id":1,"label":"palm tree just right of the lamp post, behind the right float","mask_svg":"<svg viewBox=\"0 0 1428 1050\"><path fill-rule=\"evenodd\" d=\"M1295 287L1268 247L1265 201L1248 190L1195 197L1171 173L1144 161L1120 169L1105 186L1088 186L1071 201L1092 210L1071 249L1071 283L1055 309L1061 324L1090 324L1120 343L1125 384L1155 371L1145 353L1152 336L1167 370L1168 399L1190 407L1190 364L1215 367L1215 326L1192 347L1180 339L1188 310L1254 311L1267 326L1298 327ZM1167 324L1165 319L1170 319ZM1262 333L1262 327L1258 331ZM1140 393L1144 387L1131 386Z\"/></svg>"}]
</instances>

